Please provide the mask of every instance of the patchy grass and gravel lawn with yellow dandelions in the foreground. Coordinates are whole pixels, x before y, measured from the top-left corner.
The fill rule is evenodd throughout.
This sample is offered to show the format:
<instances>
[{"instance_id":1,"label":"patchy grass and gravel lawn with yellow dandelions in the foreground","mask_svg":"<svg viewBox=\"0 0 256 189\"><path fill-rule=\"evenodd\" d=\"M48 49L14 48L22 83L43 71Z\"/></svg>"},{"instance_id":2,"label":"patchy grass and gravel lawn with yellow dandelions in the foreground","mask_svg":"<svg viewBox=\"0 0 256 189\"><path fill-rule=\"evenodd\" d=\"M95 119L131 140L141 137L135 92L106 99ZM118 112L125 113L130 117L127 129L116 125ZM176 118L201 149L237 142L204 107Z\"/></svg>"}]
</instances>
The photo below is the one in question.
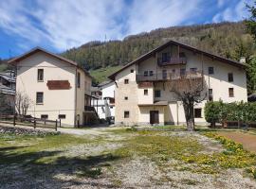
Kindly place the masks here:
<instances>
[{"instance_id":1,"label":"patchy grass and gravel lawn with yellow dandelions in the foreground","mask_svg":"<svg viewBox=\"0 0 256 189\"><path fill-rule=\"evenodd\" d=\"M167 127L167 129L170 127ZM0 188L253 188L256 159L212 132L0 134Z\"/></svg>"}]
</instances>

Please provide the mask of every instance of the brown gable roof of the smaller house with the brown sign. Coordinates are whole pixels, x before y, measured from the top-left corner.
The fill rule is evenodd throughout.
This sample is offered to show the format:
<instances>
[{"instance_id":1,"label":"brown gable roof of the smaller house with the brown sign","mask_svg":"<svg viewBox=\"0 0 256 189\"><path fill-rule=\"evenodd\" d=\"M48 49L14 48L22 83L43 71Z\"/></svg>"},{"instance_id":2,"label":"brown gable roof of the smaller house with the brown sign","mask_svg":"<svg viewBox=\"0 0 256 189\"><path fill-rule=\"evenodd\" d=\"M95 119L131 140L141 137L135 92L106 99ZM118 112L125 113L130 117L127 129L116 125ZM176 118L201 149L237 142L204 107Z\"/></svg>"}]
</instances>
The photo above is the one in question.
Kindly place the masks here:
<instances>
[{"instance_id":1,"label":"brown gable roof of the smaller house with the brown sign","mask_svg":"<svg viewBox=\"0 0 256 189\"><path fill-rule=\"evenodd\" d=\"M39 47L39 46L37 46L37 47L35 47L35 48L32 48L32 49L29 50L27 53L25 53L25 54L23 54L23 55L21 55L21 56L18 56L18 57L15 57L15 58L9 60L8 63L13 64L13 65L18 64L19 61L25 60L25 59L27 59L27 57L29 57L29 56L31 56L31 55L37 53L37 52L44 52L44 53L46 53L47 55L50 55L50 56L52 56L52 57L54 57L54 58L56 58L56 59L58 59L58 60L63 60L64 62L67 62L67 63L69 63L69 64L71 64L71 65L73 65L73 66L76 66L76 67L82 69L82 71L85 73L85 75L87 75L88 77L91 77L90 74L89 74L84 68L82 68L82 66L78 65L77 62L75 62L75 61L73 61L73 60L65 59L64 57L59 56L59 55L56 55L56 54L54 54L54 53L51 53L51 52L47 51L46 49L41 48L41 47Z\"/></svg>"}]
</instances>

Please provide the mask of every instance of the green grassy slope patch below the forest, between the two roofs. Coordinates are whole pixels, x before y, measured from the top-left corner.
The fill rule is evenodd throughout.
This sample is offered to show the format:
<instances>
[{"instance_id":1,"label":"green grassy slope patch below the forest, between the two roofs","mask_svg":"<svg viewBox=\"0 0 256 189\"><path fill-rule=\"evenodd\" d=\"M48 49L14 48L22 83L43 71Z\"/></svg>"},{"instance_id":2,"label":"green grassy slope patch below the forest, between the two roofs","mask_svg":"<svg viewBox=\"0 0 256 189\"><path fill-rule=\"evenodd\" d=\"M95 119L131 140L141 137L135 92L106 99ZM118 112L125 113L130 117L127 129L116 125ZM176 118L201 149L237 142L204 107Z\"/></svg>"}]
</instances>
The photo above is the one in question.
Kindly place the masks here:
<instances>
[{"instance_id":1,"label":"green grassy slope patch below the forest, between the two roofs","mask_svg":"<svg viewBox=\"0 0 256 189\"><path fill-rule=\"evenodd\" d=\"M101 83L102 81L108 80L107 77L118 71L121 67L122 66L114 66L92 70L90 71L90 75L94 77L97 82Z\"/></svg>"}]
</instances>

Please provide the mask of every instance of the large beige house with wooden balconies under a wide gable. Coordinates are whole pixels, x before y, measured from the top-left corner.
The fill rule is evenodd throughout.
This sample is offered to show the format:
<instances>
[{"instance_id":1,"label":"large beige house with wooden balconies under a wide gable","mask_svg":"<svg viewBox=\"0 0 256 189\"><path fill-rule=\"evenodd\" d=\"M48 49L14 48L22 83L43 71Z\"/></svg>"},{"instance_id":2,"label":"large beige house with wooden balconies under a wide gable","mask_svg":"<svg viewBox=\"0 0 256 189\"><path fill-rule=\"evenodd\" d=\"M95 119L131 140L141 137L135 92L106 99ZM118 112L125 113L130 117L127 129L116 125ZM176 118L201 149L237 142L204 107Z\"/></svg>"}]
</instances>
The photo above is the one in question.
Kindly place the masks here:
<instances>
[{"instance_id":1,"label":"large beige house with wooden balconies under a wide gable","mask_svg":"<svg viewBox=\"0 0 256 189\"><path fill-rule=\"evenodd\" d=\"M109 78L115 81L116 125L185 124L181 102L168 83L202 77L206 98L196 104L196 124L205 124L208 100L247 101L245 64L170 41L132 61Z\"/></svg>"}]
</instances>

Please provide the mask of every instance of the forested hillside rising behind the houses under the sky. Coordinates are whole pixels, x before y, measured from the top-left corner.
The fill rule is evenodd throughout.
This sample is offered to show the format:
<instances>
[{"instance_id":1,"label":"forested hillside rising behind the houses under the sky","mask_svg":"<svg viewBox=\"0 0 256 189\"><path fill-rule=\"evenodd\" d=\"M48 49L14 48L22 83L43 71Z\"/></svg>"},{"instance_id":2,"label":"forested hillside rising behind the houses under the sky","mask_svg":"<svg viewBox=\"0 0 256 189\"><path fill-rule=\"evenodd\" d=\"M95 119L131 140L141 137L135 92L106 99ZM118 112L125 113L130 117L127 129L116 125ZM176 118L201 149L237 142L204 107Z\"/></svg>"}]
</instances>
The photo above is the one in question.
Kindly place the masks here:
<instances>
[{"instance_id":1,"label":"forested hillside rising behind the houses under the sky","mask_svg":"<svg viewBox=\"0 0 256 189\"><path fill-rule=\"evenodd\" d=\"M128 36L122 41L85 43L67 50L63 56L79 62L86 69L95 70L126 64L168 40L191 44L233 60L254 53L253 40L247 33L245 23L226 22L158 28L148 33Z\"/></svg>"}]
</instances>

